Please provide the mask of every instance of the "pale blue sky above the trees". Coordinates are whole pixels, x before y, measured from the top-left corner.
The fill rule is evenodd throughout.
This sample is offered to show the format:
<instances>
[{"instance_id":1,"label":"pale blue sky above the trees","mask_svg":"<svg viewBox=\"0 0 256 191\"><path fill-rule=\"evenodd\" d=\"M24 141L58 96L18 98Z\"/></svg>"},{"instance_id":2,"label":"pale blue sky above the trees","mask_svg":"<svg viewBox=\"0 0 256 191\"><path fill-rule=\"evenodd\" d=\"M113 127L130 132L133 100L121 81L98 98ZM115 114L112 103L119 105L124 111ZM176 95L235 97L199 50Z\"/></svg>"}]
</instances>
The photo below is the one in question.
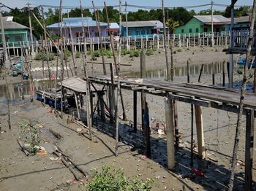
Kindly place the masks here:
<instances>
[{"instance_id":1,"label":"pale blue sky above the trees","mask_svg":"<svg viewBox=\"0 0 256 191\"><path fill-rule=\"evenodd\" d=\"M105 0L107 5L117 5L118 0ZM230 4L231 0L215 0L215 4ZM0 0L2 4L8 7L24 7L27 2L34 5L46 4L46 5L59 5L59 0ZM94 0L95 6L103 6L104 0ZM122 3L124 4L124 0ZM165 0L165 7L186 7L195 6L200 4L210 4L211 0ZM252 5L253 0L238 0L237 5ZM143 6L156 6L161 7L161 0L127 0L127 4L143 5ZM91 7L91 0L82 0L84 7ZM75 6L79 7L79 0L63 0L63 6ZM198 12L200 9L209 9L210 7L200 7L195 9ZM215 7L216 10L223 10L225 7ZM128 7L128 11L135 11L135 8Z\"/></svg>"}]
</instances>

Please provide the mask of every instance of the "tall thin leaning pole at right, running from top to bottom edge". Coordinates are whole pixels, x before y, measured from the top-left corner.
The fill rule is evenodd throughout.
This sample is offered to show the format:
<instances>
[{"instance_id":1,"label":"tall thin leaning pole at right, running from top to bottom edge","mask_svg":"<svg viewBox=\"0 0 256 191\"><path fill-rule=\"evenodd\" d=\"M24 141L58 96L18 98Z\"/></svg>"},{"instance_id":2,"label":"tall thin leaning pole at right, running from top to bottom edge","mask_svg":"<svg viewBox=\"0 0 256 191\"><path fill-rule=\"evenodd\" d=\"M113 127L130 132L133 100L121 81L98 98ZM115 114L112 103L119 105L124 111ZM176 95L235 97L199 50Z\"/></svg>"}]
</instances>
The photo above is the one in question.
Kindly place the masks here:
<instances>
[{"instance_id":1,"label":"tall thin leaning pole at right, running from top to bottom edge","mask_svg":"<svg viewBox=\"0 0 256 191\"><path fill-rule=\"evenodd\" d=\"M253 1L252 6L252 18L251 23L255 23L255 13L256 13L256 0ZM238 120L236 124L236 136L235 136L235 142L233 147L233 157L231 161L231 168L230 168L230 179L228 182L228 190L233 190L233 183L234 183L234 175L235 175L235 168L236 168L236 159L237 159L237 152L238 152L238 143L241 135L241 117L243 115L244 110L244 96L246 91L246 82L247 82L247 72L248 72L248 65L249 65L249 59L252 54L252 36L254 31L254 24L250 26L249 31L249 38L248 38L248 47L246 52L246 63L244 66L244 77L243 82L241 86L241 96L240 96L240 103L239 103L239 112L238 112Z\"/></svg>"}]
</instances>

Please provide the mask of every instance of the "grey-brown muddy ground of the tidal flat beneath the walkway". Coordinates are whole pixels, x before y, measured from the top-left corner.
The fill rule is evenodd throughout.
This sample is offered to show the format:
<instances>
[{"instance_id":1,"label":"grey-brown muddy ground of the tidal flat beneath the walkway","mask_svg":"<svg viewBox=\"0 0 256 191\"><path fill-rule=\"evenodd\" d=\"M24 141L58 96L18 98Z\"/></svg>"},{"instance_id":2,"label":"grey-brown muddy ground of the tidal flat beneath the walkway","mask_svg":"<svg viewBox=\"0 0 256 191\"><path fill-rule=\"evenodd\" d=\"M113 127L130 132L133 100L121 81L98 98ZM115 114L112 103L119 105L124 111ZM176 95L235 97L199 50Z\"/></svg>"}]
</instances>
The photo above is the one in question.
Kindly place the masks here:
<instances>
[{"instance_id":1,"label":"grey-brown muddy ground of the tidal flat beneath the walkway","mask_svg":"<svg viewBox=\"0 0 256 191\"><path fill-rule=\"evenodd\" d=\"M204 50L200 48L182 49L174 55L175 66L186 66L188 58L192 63L212 63L227 61L228 56L219 48L214 50L208 47ZM101 61L100 58L97 58ZM71 60L71 59L70 59ZM78 68L83 74L80 59ZM109 59L108 61L113 61ZM124 56L121 61L132 66L121 66L121 71L139 71L140 58L129 58ZM53 61L54 62L54 61ZM72 62L70 61L70 64ZM32 68L42 67L42 61L33 61ZM151 69L165 68L164 52L156 52L155 55L146 57L146 67ZM72 68L72 67L71 67ZM90 72L90 70L89 70ZM7 73L10 73L7 72ZM102 74L102 65L94 64L94 74ZM34 71L34 79L42 78L42 71ZM191 82L197 82L197 75L191 76ZM162 77L163 79L163 77ZM236 80L241 76L236 75ZM186 76L176 77L176 82L187 82ZM94 120L94 130L97 132L97 139L94 137L90 141L86 136L79 135L75 130L80 126L74 123L67 124L68 114L64 114L63 119L56 117L50 112L48 106L42 106L39 101L31 102L25 96L19 98L20 92L12 82L21 82L20 78L8 76L10 83L9 90L12 98L10 104L11 125L7 125L7 101L5 97L5 81L1 79L0 88L0 190L85 190L87 179L75 182L74 176L68 168L64 167L60 160L50 160L49 157L55 155L34 155L26 157L20 150L16 139L24 139L24 130L20 126L27 121L39 124L40 145L51 143L58 145L64 153L72 157L84 171L92 175L91 169L100 168L103 163L113 165L113 168L123 168L126 176L138 176L140 179L155 179L152 190L220 190L227 185L228 169L233 151L233 139L236 130L236 114L223 112L217 109L203 108L203 125L207 155L213 160L201 162L195 155L194 166L203 171L204 176L191 175L190 152L190 132L191 132L191 112L190 105L178 103L178 128L181 131L181 148L176 151L176 168L173 171L167 170L167 153L165 134L157 130L157 124L164 132L165 125L165 105L164 98L154 95L147 95L149 106L149 116L151 121L151 159L145 158L142 147L142 135L140 132L140 104L138 104L138 132L133 133L132 124L132 93L124 90L124 103L128 121L121 122L121 141L118 147L119 155L116 157L115 139L111 134L109 125L100 122L99 117ZM211 84L211 74L202 76L201 82ZM26 83L26 82L23 82ZM222 75L216 74L216 83L222 83ZM48 83L35 82L35 88L48 87ZM17 85L17 84L16 84ZM236 83L238 86L238 83ZM24 85L26 87L26 85ZM24 91L29 95L29 87ZM140 95L138 93L138 103ZM96 104L96 100L94 101ZM121 105L119 106L121 108ZM86 110L86 106L83 108ZM121 115L121 113L119 113ZM83 111L83 120L86 118ZM195 120L194 120L195 121ZM236 166L236 190L244 188L244 136L245 118L242 122L241 141L238 150L238 161ZM194 124L195 127L195 124ZM59 132L63 138L56 139L50 132L52 128ZM195 143L196 132L194 131ZM253 180L256 181L256 155L253 160Z\"/></svg>"}]
</instances>

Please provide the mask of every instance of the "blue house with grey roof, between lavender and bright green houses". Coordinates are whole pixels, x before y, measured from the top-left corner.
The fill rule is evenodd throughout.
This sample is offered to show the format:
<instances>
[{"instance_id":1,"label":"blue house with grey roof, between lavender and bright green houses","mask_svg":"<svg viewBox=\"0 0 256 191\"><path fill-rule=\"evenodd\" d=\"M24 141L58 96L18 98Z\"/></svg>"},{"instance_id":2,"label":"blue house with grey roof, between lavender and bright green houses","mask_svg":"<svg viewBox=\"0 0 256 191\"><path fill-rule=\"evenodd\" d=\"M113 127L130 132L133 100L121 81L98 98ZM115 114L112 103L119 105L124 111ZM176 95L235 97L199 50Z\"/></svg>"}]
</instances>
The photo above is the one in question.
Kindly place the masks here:
<instances>
[{"instance_id":1,"label":"blue house with grey roof, between lavender and bright green houses","mask_svg":"<svg viewBox=\"0 0 256 191\"><path fill-rule=\"evenodd\" d=\"M129 21L121 23L122 36L146 36L160 34L164 25L159 20L147 20L147 21Z\"/></svg>"}]
</instances>

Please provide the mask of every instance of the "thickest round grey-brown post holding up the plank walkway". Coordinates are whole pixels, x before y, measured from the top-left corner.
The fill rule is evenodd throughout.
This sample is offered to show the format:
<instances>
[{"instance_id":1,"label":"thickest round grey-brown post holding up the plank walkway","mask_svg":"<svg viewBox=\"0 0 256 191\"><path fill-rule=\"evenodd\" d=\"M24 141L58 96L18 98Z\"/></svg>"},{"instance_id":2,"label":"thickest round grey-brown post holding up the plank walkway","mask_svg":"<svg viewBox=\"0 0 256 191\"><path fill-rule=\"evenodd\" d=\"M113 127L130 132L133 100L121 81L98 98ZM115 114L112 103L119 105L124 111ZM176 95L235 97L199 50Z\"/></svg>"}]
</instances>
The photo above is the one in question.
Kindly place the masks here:
<instances>
[{"instance_id":1,"label":"thickest round grey-brown post holding up the plank walkway","mask_svg":"<svg viewBox=\"0 0 256 191\"><path fill-rule=\"evenodd\" d=\"M165 98L165 121L167 136L167 168L173 169L175 165L175 149L174 149L174 119L173 119L173 101Z\"/></svg>"}]
</instances>

